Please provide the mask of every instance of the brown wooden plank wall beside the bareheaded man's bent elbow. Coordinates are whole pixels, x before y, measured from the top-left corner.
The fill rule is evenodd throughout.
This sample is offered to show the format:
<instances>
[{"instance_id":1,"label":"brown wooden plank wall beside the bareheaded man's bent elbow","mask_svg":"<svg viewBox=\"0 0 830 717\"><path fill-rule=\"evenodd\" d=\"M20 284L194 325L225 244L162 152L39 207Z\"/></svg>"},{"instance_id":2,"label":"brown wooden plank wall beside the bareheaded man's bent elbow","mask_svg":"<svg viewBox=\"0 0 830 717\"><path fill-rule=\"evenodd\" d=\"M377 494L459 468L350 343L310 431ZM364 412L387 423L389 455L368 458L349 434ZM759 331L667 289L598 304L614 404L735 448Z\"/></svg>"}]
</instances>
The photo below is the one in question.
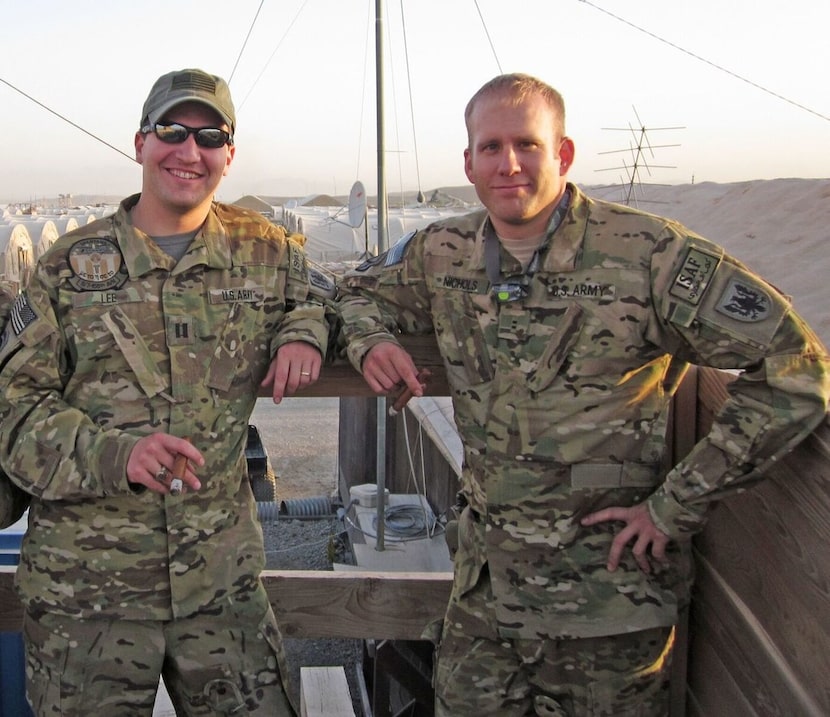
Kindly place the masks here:
<instances>
[{"instance_id":1,"label":"brown wooden plank wall beside the bareheaded man's bent elbow","mask_svg":"<svg viewBox=\"0 0 830 717\"><path fill-rule=\"evenodd\" d=\"M728 377L698 371L697 431ZM830 421L695 539L687 714L830 715Z\"/></svg>"}]
</instances>

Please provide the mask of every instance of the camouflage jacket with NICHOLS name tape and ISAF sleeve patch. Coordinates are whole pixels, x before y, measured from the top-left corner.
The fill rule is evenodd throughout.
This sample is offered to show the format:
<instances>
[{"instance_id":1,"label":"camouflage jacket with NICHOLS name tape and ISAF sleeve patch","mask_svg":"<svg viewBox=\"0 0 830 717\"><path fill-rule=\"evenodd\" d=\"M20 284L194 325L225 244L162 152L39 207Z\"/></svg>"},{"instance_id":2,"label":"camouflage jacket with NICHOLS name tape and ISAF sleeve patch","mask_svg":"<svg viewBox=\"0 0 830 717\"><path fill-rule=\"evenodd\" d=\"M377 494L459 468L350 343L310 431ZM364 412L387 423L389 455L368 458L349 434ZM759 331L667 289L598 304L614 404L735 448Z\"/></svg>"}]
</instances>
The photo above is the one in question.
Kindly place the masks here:
<instances>
[{"instance_id":1,"label":"camouflage jacket with NICHOLS name tape and ISAF sleeve patch","mask_svg":"<svg viewBox=\"0 0 830 717\"><path fill-rule=\"evenodd\" d=\"M569 187L523 299L493 298L485 212L405 237L341 287L357 368L398 332L436 334L470 505L454 590L473 587L486 563L508 637L672 624L707 506L808 435L830 395L825 348L776 289L675 222ZM498 252L503 277L522 274ZM668 405L690 363L741 374L709 435L671 467ZM649 576L628 551L609 573L619 525L580 518L643 501L675 539L673 559Z\"/></svg>"}]
</instances>

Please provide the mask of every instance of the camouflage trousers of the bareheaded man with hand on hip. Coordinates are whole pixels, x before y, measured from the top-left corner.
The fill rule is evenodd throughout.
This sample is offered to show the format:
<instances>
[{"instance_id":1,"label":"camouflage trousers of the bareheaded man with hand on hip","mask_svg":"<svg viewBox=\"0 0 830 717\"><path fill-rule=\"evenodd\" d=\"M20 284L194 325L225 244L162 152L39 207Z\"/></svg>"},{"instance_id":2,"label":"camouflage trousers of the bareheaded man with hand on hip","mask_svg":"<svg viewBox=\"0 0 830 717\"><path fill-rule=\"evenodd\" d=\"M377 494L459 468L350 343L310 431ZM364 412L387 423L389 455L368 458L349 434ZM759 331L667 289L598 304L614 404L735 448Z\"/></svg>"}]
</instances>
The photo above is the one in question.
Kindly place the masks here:
<instances>
[{"instance_id":1,"label":"camouflage trousers of the bareheaded man with hand on hip","mask_svg":"<svg viewBox=\"0 0 830 717\"><path fill-rule=\"evenodd\" d=\"M485 570L477 587L448 608L435 667L436 717L668 715L674 628L500 638L483 619L489 584Z\"/></svg>"}]
</instances>

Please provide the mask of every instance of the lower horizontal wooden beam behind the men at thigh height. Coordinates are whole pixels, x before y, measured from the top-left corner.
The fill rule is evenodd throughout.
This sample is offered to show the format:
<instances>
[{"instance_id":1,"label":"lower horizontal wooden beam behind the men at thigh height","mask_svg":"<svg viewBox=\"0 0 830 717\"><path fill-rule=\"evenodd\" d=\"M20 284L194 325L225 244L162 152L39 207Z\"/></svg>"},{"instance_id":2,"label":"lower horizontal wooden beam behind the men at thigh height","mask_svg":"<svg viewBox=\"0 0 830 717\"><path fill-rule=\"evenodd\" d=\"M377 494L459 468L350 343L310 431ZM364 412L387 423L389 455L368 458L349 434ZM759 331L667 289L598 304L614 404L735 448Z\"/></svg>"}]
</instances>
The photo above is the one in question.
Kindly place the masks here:
<instances>
[{"instance_id":1,"label":"lower horizontal wooden beam behind the men at thigh height","mask_svg":"<svg viewBox=\"0 0 830 717\"><path fill-rule=\"evenodd\" d=\"M14 571L0 565L0 631L23 620ZM444 616L452 586L447 572L266 570L262 579L287 638L418 640Z\"/></svg>"}]
</instances>

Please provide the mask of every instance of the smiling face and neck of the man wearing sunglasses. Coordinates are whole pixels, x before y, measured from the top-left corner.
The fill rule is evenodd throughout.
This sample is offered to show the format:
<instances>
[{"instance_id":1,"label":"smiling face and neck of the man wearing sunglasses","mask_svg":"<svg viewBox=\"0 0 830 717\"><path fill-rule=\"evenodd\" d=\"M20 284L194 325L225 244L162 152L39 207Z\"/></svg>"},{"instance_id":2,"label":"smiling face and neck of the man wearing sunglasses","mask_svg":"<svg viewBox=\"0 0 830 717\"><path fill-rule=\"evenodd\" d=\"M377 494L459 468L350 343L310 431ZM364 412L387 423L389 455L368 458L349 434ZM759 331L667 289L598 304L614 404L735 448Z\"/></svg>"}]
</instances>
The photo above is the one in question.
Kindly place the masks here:
<instances>
[{"instance_id":1,"label":"smiling face and neck of the man wearing sunglasses","mask_svg":"<svg viewBox=\"0 0 830 717\"><path fill-rule=\"evenodd\" d=\"M162 123L171 122L229 129L218 114L198 102L171 109ZM181 144L166 144L152 132L136 133L135 154L143 168L141 199L133 211L136 225L156 235L199 227L234 152L233 145L200 147L193 134Z\"/></svg>"}]
</instances>

